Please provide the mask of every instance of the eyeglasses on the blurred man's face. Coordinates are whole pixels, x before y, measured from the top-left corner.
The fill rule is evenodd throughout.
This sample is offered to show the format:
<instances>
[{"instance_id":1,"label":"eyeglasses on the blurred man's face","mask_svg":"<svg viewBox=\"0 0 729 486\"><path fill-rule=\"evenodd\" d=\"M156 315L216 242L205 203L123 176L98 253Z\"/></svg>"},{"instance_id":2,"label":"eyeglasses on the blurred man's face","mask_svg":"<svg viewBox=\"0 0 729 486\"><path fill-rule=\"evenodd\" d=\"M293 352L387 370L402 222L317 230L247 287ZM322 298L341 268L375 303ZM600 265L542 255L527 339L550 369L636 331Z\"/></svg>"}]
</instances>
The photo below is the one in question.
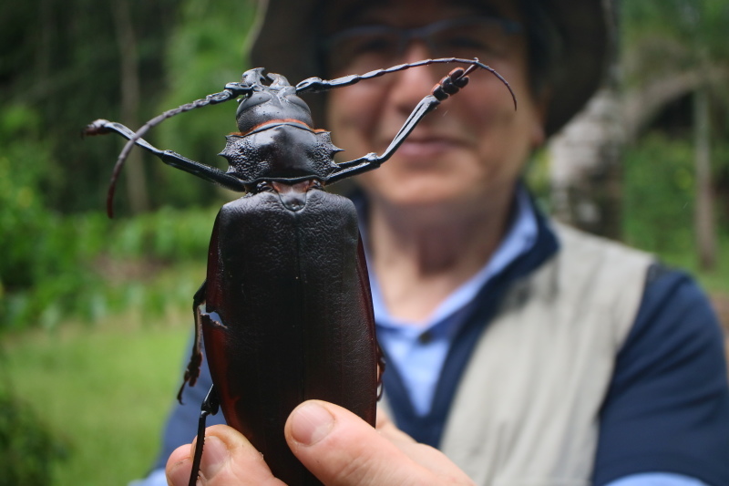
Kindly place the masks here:
<instances>
[{"instance_id":1,"label":"eyeglasses on the blurred man's face","mask_svg":"<svg viewBox=\"0 0 729 486\"><path fill-rule=\"evenodd\" d=\"M406 48L415 40L423 42L432 57L478 57L493 62L504 57L512 36L521 32L522 26L513 20L473 16L406 29L356 26L330 36L322 47L330 74L364 73L403 62Z\"/></svg>"}]
</instances>

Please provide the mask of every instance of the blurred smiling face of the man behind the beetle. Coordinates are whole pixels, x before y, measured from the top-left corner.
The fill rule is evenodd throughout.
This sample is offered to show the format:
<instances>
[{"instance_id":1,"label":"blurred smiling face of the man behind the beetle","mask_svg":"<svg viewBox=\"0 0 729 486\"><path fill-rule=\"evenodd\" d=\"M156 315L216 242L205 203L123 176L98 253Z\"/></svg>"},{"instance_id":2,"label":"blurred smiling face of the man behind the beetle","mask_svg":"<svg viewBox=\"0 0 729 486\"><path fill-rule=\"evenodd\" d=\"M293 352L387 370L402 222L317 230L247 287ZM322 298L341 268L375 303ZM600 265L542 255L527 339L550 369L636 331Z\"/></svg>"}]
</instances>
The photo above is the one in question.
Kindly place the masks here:
<instances>
[{"instance_id":1,"label":"blurred smiling face of the man behind the beetle","mask_svg":"<svg viewBox=\"0 0 729 486\"><path fill-rule=\"evenodd\" d=\"M484 16L519 22L519 13L510 2L484 3L490 6L479 6L477 10L447 0L387 2L387 6L365 8L354 19L340 20L336 25L341 28L335 29L334 35L354 26L411 29L444 19L454 19L457 25L455 19L459 22ZM464 26L462 31L469 28L472 27ZM482 29L480 34L472 35L476 39L479 35L491 35L490 31L483 31L483 26L473 28ZM498 24L494 28L499 28ZM411 39L392 64L436 56L458 57L462 52L478 50L468 44L474 40L469 36L461 39L453 32L444 33L438 28L435 31L430 39ZM472 73L468 86L427 115L391 160L360 177L371 198L388 204L457 211L470 204L488 203L489 197L513 190L530 151L543 141L542 114L529 91L525 36L522 33L496 38L501 39L497 49L500 52L485 53L480 60L508 80L517 95L519 109L514 110L508 89L498 78L485 70ZM447 55L449 47L457 52ZM434 49L436 52L432 52ZM360 43L345 56L337 57L335 47L330 53L333 58L328 59L328 64L332 72L328 75L332 78L363 74L359 69L374 68L373 59L390 62L393 57L385 56L382 42L378 44L376 38L369 44ZM382 153L418 101L453 67L456 66L415 67L333 90L328 98L327 117L334 143L352 154L349 158L370 151Z\"/></svg>"}]
</instances>

